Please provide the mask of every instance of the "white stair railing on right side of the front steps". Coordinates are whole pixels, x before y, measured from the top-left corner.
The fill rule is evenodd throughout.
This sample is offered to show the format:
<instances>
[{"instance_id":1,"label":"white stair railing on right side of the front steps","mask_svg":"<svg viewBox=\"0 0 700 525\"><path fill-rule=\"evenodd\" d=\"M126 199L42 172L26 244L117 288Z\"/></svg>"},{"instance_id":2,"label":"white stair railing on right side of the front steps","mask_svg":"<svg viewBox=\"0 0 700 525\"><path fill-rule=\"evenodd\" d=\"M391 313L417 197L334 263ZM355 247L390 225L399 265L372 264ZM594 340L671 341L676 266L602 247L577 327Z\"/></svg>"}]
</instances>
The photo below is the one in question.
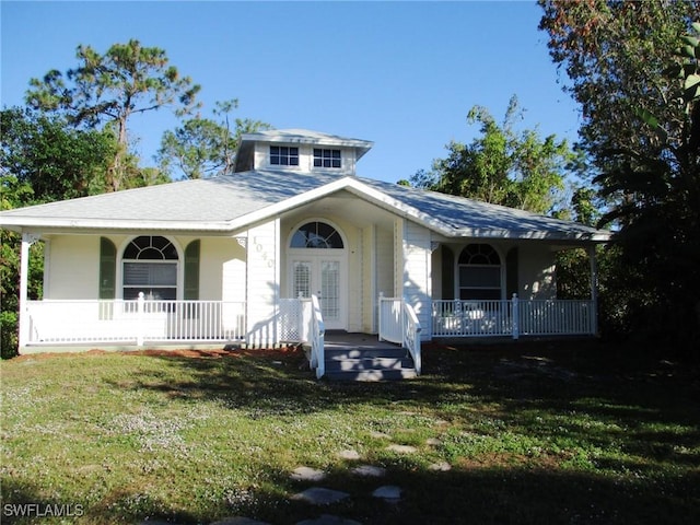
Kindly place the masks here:
<instances>
[{"instance_id":1,"label":"white stair railing on right side of the front steps","mask_svg":"<svg viewBox=\"0 0 700 525\"><path fill-rule=\"evenodd\" d=\"M420 332L422 330L412 306L400 298L380 295L380 341L389 341L408 349L416 373L422 368Z\"/></svg>"}]
</instances>

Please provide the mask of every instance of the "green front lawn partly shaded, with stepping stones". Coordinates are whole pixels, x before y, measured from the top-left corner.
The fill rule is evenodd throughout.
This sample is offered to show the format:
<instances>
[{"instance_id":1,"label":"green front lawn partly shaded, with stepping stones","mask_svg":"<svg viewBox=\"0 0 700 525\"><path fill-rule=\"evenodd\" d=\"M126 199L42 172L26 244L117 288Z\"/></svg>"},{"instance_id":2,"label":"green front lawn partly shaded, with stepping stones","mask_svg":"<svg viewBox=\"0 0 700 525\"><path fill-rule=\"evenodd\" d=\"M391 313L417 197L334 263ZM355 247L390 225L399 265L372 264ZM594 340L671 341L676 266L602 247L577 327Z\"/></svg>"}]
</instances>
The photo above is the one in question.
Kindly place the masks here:
<instances>
[{"instance_id":1,"label":"green front lawn partly shaded, with stepping stones","mask_svg":"<svg viewBox=\"0 0 700 525\"><path fill-rule=\"evenodd\" d=\"M697 370L596 342L423 359L418 380L350 384L314 381L290 352L3 361L0 518L34 523L10 514L37 503L82 514L40 523L700 523ZM351 498L292 500L318 485L291 480L299 466ZM400 502L372 498L382 485Z\"/></svg>"}]
</instances>

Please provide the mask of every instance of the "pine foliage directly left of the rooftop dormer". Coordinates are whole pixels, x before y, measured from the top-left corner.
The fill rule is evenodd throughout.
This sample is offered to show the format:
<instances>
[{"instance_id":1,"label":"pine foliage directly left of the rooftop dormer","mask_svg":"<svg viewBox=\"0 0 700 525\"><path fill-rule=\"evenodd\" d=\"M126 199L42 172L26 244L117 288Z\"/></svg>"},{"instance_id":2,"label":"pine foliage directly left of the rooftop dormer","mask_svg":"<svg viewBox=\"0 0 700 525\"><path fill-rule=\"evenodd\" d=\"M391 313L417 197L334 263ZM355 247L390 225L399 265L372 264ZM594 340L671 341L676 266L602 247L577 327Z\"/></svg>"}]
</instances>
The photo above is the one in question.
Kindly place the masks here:
<instances>
[{"instance_id":1,"label":"pine foliage directly left of the rooftop dormer","mask_svg":"<svg viewBox=\"0 0 700 525\"><path fill-rule=\"evenodd\" d=\"M174 131L166 131L158 152L161 168L172 173L175 167L185 178L202 178L233 172L235 153L244 133L270 129L259 120L236 118L230 114L238 101L217 102L213 117L190 118Z\"/></svg>"}]
</instances>

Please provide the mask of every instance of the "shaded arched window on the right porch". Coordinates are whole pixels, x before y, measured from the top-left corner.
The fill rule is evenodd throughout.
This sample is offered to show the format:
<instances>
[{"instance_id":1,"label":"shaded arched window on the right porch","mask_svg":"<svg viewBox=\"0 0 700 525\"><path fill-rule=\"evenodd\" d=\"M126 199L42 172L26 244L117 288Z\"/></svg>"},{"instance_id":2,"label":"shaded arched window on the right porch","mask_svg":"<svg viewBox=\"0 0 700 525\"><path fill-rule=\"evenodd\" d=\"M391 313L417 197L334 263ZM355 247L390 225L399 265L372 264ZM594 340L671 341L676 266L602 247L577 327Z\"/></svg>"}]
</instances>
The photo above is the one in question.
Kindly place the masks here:
<instances>
[{"instance_id":1,"label":"shaded arched window on the right porch","mask_svg":"<svg viewBox=\"0 0 700 525\"><path fill-rule=\"evenodd\" d=\"M488 244L470 244L462 250L457 261L459 299L500 300L501 258Z\"/></svg>"}]
</instances>

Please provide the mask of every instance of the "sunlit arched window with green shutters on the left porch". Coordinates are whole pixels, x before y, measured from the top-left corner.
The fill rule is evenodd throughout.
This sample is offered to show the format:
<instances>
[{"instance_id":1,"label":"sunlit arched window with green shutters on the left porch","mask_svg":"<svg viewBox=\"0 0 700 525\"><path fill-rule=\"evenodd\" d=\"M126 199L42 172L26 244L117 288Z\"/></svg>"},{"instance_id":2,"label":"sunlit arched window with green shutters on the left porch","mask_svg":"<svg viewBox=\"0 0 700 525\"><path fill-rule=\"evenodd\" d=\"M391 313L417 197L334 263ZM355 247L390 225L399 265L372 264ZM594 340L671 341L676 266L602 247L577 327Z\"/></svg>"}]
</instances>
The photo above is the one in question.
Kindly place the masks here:
<instances>
[{"instance_id":1,"label":"sunlit arched window with green shutters on the left porch","mask_svg":"<svg viewBox=\"0 0 700 525\"><path fill-rule=\"evenodd\" d=\"M124 299L177 299L177 248L165 237L142 235L124 249Z\"/></svg>"}]
</instances>

